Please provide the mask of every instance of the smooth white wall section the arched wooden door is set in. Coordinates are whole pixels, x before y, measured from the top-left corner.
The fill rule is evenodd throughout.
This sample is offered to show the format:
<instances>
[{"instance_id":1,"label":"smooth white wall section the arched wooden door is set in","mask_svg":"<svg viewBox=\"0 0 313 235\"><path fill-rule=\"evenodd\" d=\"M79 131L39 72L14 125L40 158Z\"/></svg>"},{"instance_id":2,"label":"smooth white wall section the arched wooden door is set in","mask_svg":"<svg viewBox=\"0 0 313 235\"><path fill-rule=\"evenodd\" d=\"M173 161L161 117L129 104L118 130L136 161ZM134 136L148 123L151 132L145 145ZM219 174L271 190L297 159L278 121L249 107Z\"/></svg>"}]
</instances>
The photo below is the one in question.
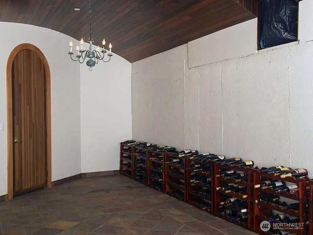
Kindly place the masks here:
<instances>
[{"instance_id":1,"label":"smooth white wall section the arched wooden door is set in","mask_svg":"<svg viewBox=\"0 0 313 235\"><path fill-rule=\"evenodd\" d=\"M6 64L14 47L30 43L48 61L51 73L52 181L80 173L80 66L67 55L70 37L53 30L0 23L0 195L7 193Z\"/></svg>"}]
</instances>

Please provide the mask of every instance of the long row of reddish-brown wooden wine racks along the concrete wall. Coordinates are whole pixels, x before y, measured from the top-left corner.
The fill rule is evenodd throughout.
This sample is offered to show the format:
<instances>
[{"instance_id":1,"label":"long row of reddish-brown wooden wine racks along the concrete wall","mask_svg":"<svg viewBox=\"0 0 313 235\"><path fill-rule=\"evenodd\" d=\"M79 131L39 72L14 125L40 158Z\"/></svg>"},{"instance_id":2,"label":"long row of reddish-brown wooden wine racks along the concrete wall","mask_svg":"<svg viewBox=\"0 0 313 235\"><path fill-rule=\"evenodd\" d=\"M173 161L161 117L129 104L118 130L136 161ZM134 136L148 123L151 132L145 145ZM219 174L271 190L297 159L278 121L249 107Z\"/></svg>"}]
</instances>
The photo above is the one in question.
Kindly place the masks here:
<instances>
[{"instance_id":1,"label":"long row of reddish-brown wooden wine racks along the concrete wall","mask_svg":"<svg viewBox=\"0 0 313 235\"><path fill-rule=\"evenodd\" d=\"M216 162L202 162L188 157L179 158L181 159L180 163L175 164L170 163L169 160L172 158L179 158L177 152L160 152L154 149L149 149L149 147L140 147L132 144L129 145L121 143L119 172L121 175L137 180L138 182L148 185L151 188L155 188L161 192L167 193L179 200L195 206L196 208L215 214L227 221L233 217L217 214L221 210L221 201L230 197L240 198L243 201L247 201L247 211L243 212L243 214L247 215L247 221L241 222L237 220L234 223L260 235L275 235L274 232L264 232L260 228L260 223L262 221L268 221L273 218L273 211L276 211L275 213L278 211L279 213L286 213L288 215L298 217L299 223L308 224L305 229L288 229L291 233L295 233L296 235L313 235L313 180L307 177L287 177L285 179L281 179L280 176L273 176L271 174L260 172L258 167L253 168L237 166L234 164L221 165ZM192 164L210 165L211 169L209 172L198 171L191 167ZM237 173L246 172L247 179L239 181L231 178L231 176L216 176L221 171L226 170L235 170ZM160 175L160 177L158 179L153 178L152 175L154 173ZM203 175L210 178L210 186L207 184L207 181L205 183L194 182L191 184L190 179L193 177L193 174ZM285 181L287 185L297 184L299 192L298 194L291 194L284 191L277 192L276 189L272 188L254 188L254 185L257 185L260 181L265 180ZM227 183L235 183L247 187L247 190L243 193L216 190L217 187ZM211 190L211 196L203 197L199 194L199 192L197 192L202 189ZM266 201L256 203L255 200L260 198L260 192L279 195L280 200L273 203ZM299 210L286 209L288 203L292 200L293 202L299 202ZM309 208L306 208L307 205ZM224 208L229 208L229 206L225 204L222 206ZM229 209L238 212L236 208Z\"/></svg>"}]
</instances>

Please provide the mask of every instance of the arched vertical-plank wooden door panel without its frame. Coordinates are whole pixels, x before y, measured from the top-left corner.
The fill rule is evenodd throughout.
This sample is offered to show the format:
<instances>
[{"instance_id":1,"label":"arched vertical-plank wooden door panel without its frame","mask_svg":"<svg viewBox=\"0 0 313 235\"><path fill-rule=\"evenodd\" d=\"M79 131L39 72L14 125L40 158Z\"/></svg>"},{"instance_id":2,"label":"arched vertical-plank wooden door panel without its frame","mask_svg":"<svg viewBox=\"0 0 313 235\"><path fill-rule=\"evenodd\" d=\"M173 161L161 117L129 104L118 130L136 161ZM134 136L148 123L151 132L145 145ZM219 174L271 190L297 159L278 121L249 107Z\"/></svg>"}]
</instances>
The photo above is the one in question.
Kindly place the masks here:
<instances>
[{"instance_id":1,"label":"arched vertical-plank wooden door panel without its frame","mask_svg":"<svg viewBox=\"0 0 313 235\"><path fill-rule=\"evenodd\" d=\"M32 50L20 51L12 69L13 194L46 186L45 68Z\"/></svg>"}]
</instances>

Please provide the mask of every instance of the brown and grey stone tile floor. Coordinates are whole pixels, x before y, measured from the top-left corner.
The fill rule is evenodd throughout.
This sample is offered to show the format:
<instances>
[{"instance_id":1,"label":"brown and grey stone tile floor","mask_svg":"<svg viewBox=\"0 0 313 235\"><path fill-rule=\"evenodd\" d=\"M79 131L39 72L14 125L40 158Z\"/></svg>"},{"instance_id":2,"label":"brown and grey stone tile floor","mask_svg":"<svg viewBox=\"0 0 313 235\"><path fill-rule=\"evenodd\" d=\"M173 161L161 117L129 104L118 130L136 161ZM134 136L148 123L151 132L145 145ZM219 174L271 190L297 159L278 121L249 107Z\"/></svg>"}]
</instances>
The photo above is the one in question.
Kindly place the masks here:
<instances>
[{"instance_id":1,"label":"brown and grey stone tile floor","mask_svg":"<svg viewBox=\"0 0 313 235\"><path fill-rule=\"evenodd\" d=\"M256 235L125 176L82 178L0 203L0 235Z\"/></svg>"}]
</instances>

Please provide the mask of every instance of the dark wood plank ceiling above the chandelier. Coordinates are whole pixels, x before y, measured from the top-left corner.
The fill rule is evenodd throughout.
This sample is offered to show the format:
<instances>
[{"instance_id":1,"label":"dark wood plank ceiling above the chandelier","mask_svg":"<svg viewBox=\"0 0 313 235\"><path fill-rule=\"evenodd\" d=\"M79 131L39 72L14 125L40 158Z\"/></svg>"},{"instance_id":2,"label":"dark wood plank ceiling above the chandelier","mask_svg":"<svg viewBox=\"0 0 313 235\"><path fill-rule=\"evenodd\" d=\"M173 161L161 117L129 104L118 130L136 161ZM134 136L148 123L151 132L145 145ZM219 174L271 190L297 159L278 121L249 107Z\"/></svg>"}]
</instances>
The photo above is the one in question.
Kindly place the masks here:
<instances>
[{"instance_id":1,"label":"dark wood plank ceiling above the chandelier","mask_svg":"<svg viewBox=\"0 0 313 235\"><path fill-rule=\"evenodd\" d=\"M94 45L105 38L114 53L134 62L255 18L255 2L91 0L92 38ZM86 42L88 5L88 0L0 0L0 22L33 24Z\"/></svg>"}]
</instances>

